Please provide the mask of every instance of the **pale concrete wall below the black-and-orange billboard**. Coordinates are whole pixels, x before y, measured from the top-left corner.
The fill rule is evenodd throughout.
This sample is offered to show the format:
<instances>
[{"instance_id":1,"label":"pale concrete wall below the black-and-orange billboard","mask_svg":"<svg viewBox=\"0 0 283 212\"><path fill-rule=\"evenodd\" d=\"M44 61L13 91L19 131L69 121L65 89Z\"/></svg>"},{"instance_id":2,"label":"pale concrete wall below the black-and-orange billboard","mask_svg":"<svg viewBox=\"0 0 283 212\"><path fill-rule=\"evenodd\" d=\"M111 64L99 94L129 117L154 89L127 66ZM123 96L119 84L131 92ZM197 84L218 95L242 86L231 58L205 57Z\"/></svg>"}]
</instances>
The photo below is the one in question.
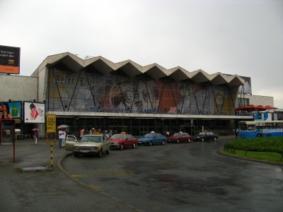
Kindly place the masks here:
<instances>
[{"instance_id":1,"label":"pale concrete wall below the black-and-orange billboard","mask_svg":"<svg viewBox=\"0 0 283 212\"><path fill-rule=\"evenodd\" d=\"M37 86L36 77L0 74L0 102L37 101Z\"/></svg>"}]
</instances>

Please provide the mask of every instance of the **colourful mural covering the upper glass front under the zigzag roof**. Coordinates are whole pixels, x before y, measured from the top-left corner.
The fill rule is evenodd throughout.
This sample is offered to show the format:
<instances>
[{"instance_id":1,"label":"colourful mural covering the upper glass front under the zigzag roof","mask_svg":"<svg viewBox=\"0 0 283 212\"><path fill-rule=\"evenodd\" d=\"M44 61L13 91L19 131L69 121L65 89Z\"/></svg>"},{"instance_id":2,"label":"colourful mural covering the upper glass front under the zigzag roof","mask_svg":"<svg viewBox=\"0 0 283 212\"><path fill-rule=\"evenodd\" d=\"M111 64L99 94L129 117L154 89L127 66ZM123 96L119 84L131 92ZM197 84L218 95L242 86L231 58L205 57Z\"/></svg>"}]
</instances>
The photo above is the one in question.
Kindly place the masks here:
<instances>
[{"instance_id":1,"label":"colourful mural covering the upper glass front under the zigzag roof","mask_svg":"<svg viewBox=\"0 0 283 212\"><path fill-rule=\"evenodd\" d=\"M103 75L50 69L47 110L168 114L233 114L225 85L134 78L122 71Z\"/></svg>"}]
</instances>

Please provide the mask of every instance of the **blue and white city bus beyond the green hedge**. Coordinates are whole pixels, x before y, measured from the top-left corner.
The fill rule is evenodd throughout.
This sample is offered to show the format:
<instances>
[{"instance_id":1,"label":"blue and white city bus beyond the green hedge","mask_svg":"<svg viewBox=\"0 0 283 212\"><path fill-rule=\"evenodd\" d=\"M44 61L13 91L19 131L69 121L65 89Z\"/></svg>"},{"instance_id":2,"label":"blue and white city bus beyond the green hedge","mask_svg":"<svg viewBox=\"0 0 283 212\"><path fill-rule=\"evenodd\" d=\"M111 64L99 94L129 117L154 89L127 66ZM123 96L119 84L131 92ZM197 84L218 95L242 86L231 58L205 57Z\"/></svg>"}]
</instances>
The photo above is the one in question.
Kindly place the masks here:
<instances>
[{"instance_id":1,"label":"blue and white city bus beyond the green hedge","mask_svg":"<svg viewBox=\"0 0 283 212\"><path fill-rule=\"evenodd\" d=\"M238 122L239 138L283 136L283 121Z\"/></svg>"}]
</instances>

